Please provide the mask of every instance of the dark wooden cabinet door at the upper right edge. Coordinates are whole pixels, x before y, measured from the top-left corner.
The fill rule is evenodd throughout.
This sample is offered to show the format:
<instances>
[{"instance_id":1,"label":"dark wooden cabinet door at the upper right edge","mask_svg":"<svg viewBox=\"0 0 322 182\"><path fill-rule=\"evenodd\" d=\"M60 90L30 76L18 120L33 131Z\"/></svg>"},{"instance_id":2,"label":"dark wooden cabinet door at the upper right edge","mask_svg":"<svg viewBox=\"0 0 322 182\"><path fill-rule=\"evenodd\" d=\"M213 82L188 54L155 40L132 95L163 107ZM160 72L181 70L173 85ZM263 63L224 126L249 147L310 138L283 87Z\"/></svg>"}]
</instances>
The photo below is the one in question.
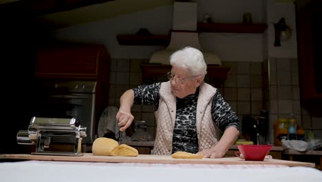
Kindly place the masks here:
<instances>
[{"instance_id":1,"label":"dark wooden cabinet door at the upper right edge","mask_svg":"<svg viewBox=\"0 0 322 182\"><path fill-rule=\"evenodd\" d=\"M322 8L297 11L301 99L322 99Z\"/></svg>"}]
</instances>

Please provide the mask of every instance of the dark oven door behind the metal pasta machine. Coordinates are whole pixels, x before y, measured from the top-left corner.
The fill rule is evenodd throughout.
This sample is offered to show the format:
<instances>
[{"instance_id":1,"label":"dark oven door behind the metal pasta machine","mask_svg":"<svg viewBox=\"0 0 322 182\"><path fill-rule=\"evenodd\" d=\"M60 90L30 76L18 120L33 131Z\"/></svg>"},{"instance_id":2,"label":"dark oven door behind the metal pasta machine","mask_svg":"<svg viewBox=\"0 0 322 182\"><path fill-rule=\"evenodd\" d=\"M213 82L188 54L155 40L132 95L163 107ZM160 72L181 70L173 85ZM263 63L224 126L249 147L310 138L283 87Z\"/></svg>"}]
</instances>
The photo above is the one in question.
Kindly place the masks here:
<instances>
[{"instance_id":1,"label":"dark oven door behind the metal pasta machine","mask_svg":"<svg viewBox=\"0 0 322 182\"><path fill-rule=\"evenodd\" d=\"M76 118L87 128L83 144L94 139L94 93L43 94L37 99L35 117Z\"/></svg>"}]
</instances>

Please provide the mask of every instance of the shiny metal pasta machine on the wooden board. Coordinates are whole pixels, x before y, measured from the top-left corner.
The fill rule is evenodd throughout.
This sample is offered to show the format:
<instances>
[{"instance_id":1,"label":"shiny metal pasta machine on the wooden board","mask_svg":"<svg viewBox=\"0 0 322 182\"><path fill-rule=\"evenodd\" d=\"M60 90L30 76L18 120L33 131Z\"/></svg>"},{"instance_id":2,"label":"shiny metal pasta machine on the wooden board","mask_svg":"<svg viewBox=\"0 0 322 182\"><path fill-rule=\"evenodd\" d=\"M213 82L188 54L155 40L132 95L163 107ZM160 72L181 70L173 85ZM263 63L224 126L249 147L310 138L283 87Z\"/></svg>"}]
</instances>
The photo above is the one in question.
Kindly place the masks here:
<instances>
[{"instance_id":1,"label":"shiny metal pasta machine on the wooden board","mask_svg":"<svg viewBox=\"0 0 322 182\"><path fill-rule=\"evenodd\" d=\"M17 143L36 145L36 152L32 154L82 156L81 143L87 136L86 129L75 118L32 117L28 130L18 132ZM65 147L57 150L57 146L61 145Z\"/></svg>"}]
</instances>

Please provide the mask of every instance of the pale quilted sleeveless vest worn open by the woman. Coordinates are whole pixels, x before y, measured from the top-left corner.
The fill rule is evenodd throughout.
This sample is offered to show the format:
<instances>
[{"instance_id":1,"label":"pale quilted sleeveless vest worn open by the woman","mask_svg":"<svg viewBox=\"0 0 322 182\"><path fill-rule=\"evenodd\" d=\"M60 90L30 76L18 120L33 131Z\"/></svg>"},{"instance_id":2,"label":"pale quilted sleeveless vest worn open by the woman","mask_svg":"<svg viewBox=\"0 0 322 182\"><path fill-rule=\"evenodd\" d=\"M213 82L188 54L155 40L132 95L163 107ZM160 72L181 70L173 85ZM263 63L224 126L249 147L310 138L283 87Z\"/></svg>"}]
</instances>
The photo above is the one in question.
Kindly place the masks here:
<instances>
[{"instance_id":1,"label":"pale quilted sleeveless vest worn open by the woman","mask_svg":"<svg viewBox=\"0 0 322 182\"><path fill-rule=\"evenodd\" d=\"M172 153L176 98L171 93L170 84L170 81L164 82L161 84L160 88L159 107L158 110L155 111L157 130L153 154L171 155ZM200 85L196 113L199 151L211 148L218 142L217 131L219 131L219 128L214 124L211 117L211 105L216 92L217 89L207 83L202 83Z\"/></svg>"}]
</instances>

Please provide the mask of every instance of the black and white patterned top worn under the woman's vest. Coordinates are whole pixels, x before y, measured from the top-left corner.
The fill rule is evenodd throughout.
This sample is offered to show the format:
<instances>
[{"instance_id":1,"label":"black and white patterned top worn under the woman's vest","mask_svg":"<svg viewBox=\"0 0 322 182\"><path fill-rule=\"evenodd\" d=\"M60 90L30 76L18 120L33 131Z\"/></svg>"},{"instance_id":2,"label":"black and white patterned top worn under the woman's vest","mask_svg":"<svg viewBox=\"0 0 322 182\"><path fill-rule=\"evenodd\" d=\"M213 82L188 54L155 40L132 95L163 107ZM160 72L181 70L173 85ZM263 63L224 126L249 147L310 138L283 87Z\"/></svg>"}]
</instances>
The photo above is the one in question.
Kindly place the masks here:
<instances>
[{"instance_id":1,"label":"black and white patterned top worn under the woman's vest","mask_svg":"<svg viewBox=\"0 0 322 182\"><path fill-rule=\"evenodd\" d=\"M152 85L140 85L133 88L134 104L155 105L158 110L160 99L161 83L153 83ZM175 128L173 130L173 148L172 153L178 151L198 152L198 138L196 128L196 112L199 88L195 94L190 94L182 99L177 97L177 110L175 117ZM241 131L241 125L235 112L224 98L219 94L218 90L213 99L211 108L213 121L224 131L228 126L234 126Z\"/></svg>"}]
</instances>

